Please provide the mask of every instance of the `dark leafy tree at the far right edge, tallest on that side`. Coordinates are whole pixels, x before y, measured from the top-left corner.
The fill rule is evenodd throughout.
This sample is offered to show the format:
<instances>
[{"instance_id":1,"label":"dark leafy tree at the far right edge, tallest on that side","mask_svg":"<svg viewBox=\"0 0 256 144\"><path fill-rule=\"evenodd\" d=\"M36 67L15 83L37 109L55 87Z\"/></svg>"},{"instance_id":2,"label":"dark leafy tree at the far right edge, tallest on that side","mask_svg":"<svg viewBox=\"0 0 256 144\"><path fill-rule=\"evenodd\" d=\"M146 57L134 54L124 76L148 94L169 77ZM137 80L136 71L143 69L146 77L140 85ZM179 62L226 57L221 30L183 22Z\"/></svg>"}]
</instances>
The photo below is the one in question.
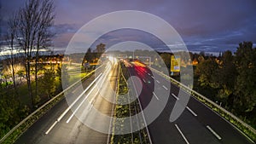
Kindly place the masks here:
<instances>
[{"instance_id":1,"label":"dark leafy tree at the far right edge, tallest on that side","mask_svg":"<svg viewBox=\"0 0 256 144\"><path fill-rule=\"evenodd\" d=\"M236 109L240 112L252 112L256 105L256 49L253 43L239 44L236 50L236 78L234 100Z\"/></svg>"}]
</instances>

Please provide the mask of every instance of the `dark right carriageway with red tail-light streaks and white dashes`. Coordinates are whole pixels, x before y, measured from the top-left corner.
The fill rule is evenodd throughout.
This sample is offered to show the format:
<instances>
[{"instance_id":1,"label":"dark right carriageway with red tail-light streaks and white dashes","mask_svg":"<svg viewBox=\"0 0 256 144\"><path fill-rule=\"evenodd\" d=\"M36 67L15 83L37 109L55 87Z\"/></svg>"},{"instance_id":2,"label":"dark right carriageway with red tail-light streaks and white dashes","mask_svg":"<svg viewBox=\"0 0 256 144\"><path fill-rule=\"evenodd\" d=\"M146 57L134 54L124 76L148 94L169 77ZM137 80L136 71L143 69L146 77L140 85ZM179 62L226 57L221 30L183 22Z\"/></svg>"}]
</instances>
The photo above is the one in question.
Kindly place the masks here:
<instances>
[{"instance_id":1,"label":"dark right carriageway with red tail-light streaks and white dashes","mask_svg":"<svg viewBox=\"0 0 256 144\"><path fill-rule=\"evenodd\" d=\"M170 96L166 107L160 116L149 124L148 130L151 140L157 144L252 144L245 135L231 125L229 122L221 118L216 112L206 107L200 101L191 97L188 106L182 115L176 121L170 122L169 118L172 108L176 101L180 101L177 97L178 93L183 93L183 89L179 89L170 81L161 77L159 74L151 72L148 67L129 66L127 67L131 76L137 76L143 83L143 90L139 99L144 108L148 106L151 99L163 101L166 98L163 95L154 94L154 84L160 91L170 91ZM143 71L142 71L143 69ZM137 91L137 87L133 87ZM155 106L158 107L158 106ZM147 120L148 115L145 113Z\"/></svg>"}]
</instances>

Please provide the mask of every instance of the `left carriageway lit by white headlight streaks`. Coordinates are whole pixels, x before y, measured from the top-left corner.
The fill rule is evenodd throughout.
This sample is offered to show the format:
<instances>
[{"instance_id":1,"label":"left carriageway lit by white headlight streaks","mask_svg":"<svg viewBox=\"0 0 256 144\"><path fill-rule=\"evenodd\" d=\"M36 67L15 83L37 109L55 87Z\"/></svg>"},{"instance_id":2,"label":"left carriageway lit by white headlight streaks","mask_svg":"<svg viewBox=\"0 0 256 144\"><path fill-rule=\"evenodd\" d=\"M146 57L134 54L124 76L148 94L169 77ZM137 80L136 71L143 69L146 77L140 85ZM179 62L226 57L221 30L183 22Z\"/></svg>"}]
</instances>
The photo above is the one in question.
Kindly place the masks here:
<instances>
[{"instance_id":1,"label":"left carriageway lit by white headlight streaks","mask_svg":"<svg viewBox=\"0 0 256 144\"><path fill-rule=\"evenodd\" d=\"M74 89L68 94L68 101L73 101L73 108L71 103L66 99L61 100L55 107L49 110L42 118L32 125L26 132L15 141L17 144L68 144L68 143L107 143L109 141L109 135L101 133L96 130L90 129L89 126L82 122L93 123L94 126L109 130L111 119L103 118L92 112L95 108L99 112L113 116L113 103L105 100L113 100L115 95L108 89L116 89L116 80L118 77L118 65L108 65L101 70L96 78L91 77L84 83L84 94L81 95L79 90ZM109 84L103 84L106 80L109 80ZM99 89L97 85L102 85ZM100 96L100 90L102 90ZM90 102L93 108L86 105L86 102ZM68 105L69 103L70 105ZM71 108L71 109L70 109ZM77 110L77 111L76 111ZM76 115L73 115L73 112ZM82 119L81 119L82 118ZM89 119L89 120L88 120Z\"/></svg>"}]
</instances>

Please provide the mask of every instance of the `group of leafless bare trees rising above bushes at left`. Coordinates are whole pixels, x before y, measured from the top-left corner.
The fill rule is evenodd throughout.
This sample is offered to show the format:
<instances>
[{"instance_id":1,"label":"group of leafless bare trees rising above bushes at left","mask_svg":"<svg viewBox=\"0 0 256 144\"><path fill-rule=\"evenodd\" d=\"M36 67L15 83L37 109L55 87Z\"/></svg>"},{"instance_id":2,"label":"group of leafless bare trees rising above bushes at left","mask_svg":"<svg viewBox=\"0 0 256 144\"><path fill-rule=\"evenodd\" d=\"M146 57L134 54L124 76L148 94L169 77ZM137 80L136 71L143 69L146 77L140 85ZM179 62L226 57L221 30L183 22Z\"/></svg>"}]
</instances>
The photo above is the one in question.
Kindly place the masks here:
<instances>
[{"instance_id":1,"label":"group of leafless bare trees rising above bushes at left","mask_svg":"<svg viewBox=\"0 0 256 144\"><path fill-rule=\"evenodd\" d=\"M22 8L9 17L5 40L9 46L9 64L11 67L12 79L15 84L15 53L21 52L24 57L26 73L27 93L31 97L30 107L35 107L34 99L39 94L38 91L38 60L40 51L49 49L52 37L55 33L50 31L54 25L54 2L52 0L27 0ZM35 57L35 61L33 61ZM34 72L32 73L32 62ZM35 93L32 89L32 76L35 79Z\"/></svg>"}]
</instances>

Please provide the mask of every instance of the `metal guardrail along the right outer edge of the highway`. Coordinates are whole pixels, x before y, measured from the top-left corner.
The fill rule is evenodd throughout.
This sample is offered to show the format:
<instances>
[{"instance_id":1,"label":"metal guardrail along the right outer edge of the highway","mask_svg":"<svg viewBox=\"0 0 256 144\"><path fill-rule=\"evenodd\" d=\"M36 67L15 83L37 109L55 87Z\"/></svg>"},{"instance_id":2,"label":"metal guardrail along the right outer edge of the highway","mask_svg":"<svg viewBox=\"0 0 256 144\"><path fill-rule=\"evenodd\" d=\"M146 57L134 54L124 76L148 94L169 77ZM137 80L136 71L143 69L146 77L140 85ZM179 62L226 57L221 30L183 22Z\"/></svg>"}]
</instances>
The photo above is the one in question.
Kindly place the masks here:
<instances>
[{"instance_id":1,"label":"metal guardrail along the right outer edge of the highway","mask_svg":"<svg viewBox=\"0 0 256 144\"><path fill-rule=\"evenodd\" d=\"M252 131L254 135L256 135L256 130L253 129L253 127L251 127L250 125L246 124L245 122L243 122L240 118L237 118L233 113L227 111L226 109L224 109L223 107L219 107L218 104L216 104L215 102L209 100L207 97L205 97L204 95L199 94L198 92L196 92L193 89L190 89L189 87L187 87L184 84L181 84L180 82L178 82L177 80L167 76L165 73L159 72L158 70L148 66L153 72L156 72L158 74L160 74L162 77L166 78L166 79L170 79L170 81L173 84L176 84L178 87L184 89L186 92L190 93L191 95L193 95L196 99L201 99L201 101L207 101L208 103L210 103L213 107L218 108L219 110L221 110L222 112L224 112L226 115L230 116L230 118L233 118L234 120L236 120L238 123L240 123L243 127L247 128L248 130ZM215 111L216 112L216 111ZM220 113L218 113L220 114ZM229 119L228 119L229 120ZM236 126L237 127L237 126Z\"/></svg>"}]
</instances>

